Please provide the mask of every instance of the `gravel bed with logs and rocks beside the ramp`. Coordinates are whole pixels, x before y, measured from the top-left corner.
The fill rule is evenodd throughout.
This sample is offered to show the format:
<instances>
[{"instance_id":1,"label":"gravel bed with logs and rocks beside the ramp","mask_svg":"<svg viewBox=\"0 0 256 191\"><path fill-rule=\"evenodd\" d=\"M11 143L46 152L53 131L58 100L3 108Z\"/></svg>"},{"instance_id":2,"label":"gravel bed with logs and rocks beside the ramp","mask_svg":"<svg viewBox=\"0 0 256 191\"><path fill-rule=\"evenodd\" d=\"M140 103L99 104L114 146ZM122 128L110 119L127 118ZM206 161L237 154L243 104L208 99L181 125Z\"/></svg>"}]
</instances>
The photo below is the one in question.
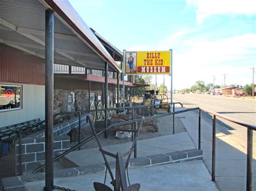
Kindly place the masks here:
<instances>
[{"instance_id":1,"label":"gravel bed with logs and rocks beside the ramp","mask_svg":"<svg viewBox=\"0 0 256 191\"><path fill-rule=\"evenodd\" d=\"M181 132L186 132L186 129L181 123L180 119L175 117L174 118L174 126L175 126L175 133L181 133ZM154 137L159 137L159 136L166 136L166 135L172 135L172 116L165 116L161 118L157 118L157 126L158 126L158 132L143 132L139 134L138 140L142 139L150 139ZM90 137L92 134L91 127L87 125L85 128L82 129L81 133L81 140L84 140L87 137ZM98 136L100 143L102 146L107 146L107 145L116 145L116 144L122 144L122 143L127 143L131 142L131 138L116 138L115 133L109 132L108 133L108 138L104 138L104 133ZM77 142L71 143L71 146L76 145ZM98 147L98 144L95 139L92 139L90 142L85 143L80 147L81 150L84 150L86 148L94 148Z\"/></svg>"}]
</instances>

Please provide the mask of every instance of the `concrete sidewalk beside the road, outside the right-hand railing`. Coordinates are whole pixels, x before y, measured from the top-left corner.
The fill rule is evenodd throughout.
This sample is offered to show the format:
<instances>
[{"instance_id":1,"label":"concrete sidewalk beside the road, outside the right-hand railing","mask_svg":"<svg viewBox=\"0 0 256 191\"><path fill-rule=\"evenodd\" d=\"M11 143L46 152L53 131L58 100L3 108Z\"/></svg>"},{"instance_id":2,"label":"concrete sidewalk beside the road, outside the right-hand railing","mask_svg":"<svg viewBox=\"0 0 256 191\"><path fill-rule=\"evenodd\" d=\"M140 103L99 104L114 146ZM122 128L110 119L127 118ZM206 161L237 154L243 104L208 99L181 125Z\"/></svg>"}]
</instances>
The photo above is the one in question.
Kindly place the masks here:
<instances>
[{"instance_id":1,"label":"concrete sidewalk beside the road, outside the right-hand railing","mask_svg":"<svg viewBox=\"0 0 256 191\"><path fill-rule=\"evenodd\" d=\"M198 114L186 112L180 117L188 135L198 148ZM220 190L246 189L246 139L216 124L216 162L215 182ZM231 128L232 129L232 128ZM256 190L256 149L253 145L253 190ZM211 172L212 168L212 123L207 117L201 118L201 150L204 162Z\"/></svg>"}]
</instances>

